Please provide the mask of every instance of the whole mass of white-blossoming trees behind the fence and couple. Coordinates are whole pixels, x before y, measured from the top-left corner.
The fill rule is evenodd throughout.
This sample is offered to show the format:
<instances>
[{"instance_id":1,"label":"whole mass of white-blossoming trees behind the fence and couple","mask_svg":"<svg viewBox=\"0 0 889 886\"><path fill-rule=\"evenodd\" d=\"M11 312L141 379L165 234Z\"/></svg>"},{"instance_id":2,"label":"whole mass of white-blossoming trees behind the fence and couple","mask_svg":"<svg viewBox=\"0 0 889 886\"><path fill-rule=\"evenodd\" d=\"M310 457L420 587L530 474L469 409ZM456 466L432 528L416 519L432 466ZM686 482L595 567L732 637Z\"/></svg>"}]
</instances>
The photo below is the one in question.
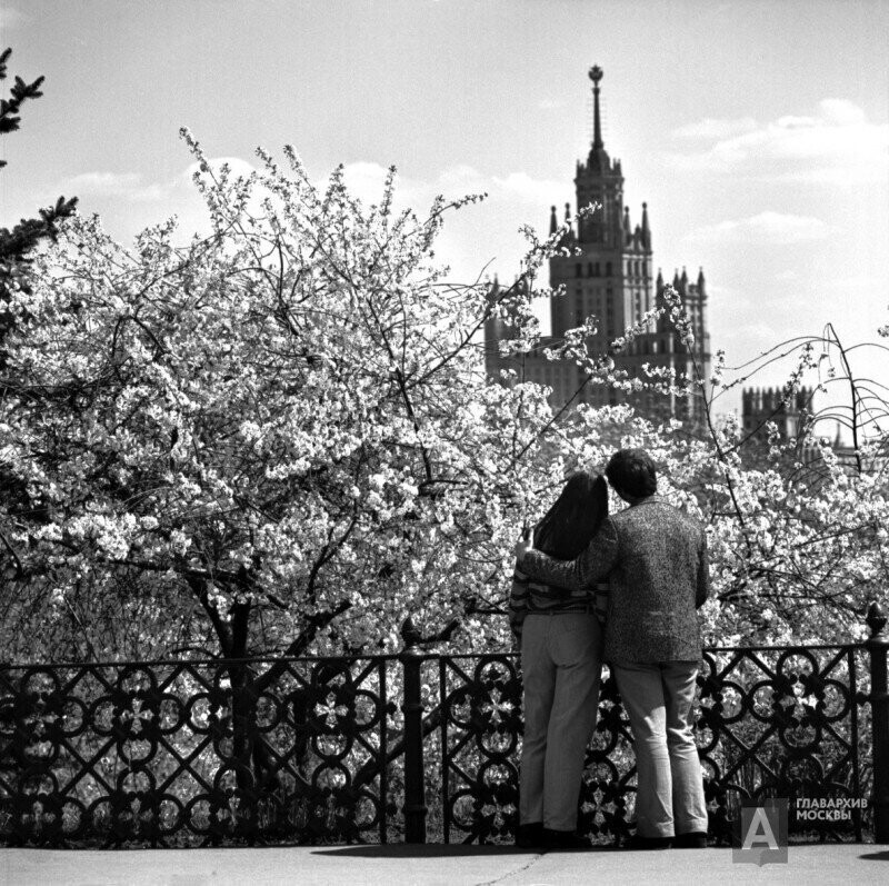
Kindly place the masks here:
<instances>
[{"instance_id":1,"label":"whole mass of white-blossoming trees behind the fence and couple","mask_svg":"<svg viewBox=\"0 0 889 886\"><path fill-rule=\"evenodd\" d=\"M751 464L709 399L695 437L488 384L486 319L508 318L518 350L537 329L523 288L492 301L434 265L444 213L475 198L421 219L393 209L390 176L366 207L341 170L319 191L292 150L287 171L260 153L234 179L184 135L209 237L177 248L170 221L128 249L76 218L12 292L0 460L23 492L0 529L18 655L37 630L38 657L392 650L407 615L427 635L461 617L452 648L502 647L506 619L483 610L502 604L512 542L616 445L648 448L662 491L708 525L711 641L845 637L881 593L880 471L829 447L815 479L795 458ZM558 241L532 240L526 279ZM657 310L690 344L678 296ZM712 396L693 377L621 378L587 350L595 322L550 356L596 384Z\"/></svg>"}]
</instances>

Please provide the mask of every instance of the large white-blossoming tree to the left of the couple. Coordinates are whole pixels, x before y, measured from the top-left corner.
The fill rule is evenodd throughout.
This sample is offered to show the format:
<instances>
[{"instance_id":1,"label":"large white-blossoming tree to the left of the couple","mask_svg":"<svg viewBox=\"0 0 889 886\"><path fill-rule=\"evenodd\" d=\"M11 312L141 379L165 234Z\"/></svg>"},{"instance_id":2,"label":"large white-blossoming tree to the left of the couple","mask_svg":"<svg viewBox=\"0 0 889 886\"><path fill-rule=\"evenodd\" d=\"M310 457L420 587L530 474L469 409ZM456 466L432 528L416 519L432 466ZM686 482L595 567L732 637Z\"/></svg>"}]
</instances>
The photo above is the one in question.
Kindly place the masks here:
<instances>
[{"instance_id":1,"label":"large white-blossoming tree to the left of the couple","mask_svg":"<svg viewBox=\"0 0 889 886\"><path fill-rule=\"evenodd\" d=\"M231 180L190 143L210 237L176 249L170 222L128 250L76 219L11 303L13 605L97 657L379 650L407 614L440 627L503 584L577 454L545 457L539 389L486 384L476 332L498 306L430 263L443 201L394 213L390 178L364 208L292 152L289 176L266 157Z\"/></svg>"}]
</instances>

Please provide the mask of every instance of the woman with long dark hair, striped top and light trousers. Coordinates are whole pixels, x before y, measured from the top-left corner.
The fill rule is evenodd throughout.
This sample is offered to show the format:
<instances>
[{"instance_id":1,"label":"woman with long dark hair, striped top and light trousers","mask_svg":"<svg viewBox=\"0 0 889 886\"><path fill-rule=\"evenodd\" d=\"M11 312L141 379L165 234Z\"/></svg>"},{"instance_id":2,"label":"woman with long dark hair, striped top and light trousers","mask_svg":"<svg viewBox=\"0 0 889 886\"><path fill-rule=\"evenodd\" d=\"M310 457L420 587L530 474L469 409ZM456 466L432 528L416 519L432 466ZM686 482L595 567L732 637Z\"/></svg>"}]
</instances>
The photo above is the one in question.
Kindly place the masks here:
<instances>
[{"instance_id":1,"label":"woman with long dark hair, striped top and light trousers","mask_svg":"<svg viewBox=\"0 0 889 886\"><path fill-rule=\"evenodd\" d=\"M533 529L537 550L573 560L608 515L603 477L575 474ZM525 848L573 848L587 745L596 727L607 586L569 591L529 581L518 568L510 624L521 641L525 737L519 833Z\"/></svg>"}]
</instances>

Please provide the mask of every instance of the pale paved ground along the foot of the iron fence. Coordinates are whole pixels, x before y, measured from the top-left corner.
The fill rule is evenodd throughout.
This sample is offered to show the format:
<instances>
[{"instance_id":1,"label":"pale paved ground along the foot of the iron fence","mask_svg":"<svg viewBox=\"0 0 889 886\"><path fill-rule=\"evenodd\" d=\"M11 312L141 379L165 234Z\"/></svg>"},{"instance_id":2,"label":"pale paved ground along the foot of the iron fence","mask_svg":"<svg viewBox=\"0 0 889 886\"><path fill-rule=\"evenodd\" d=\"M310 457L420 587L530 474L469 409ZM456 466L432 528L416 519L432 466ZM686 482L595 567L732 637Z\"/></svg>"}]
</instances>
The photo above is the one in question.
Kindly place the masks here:
<instances>
[{"instance_id":1,"label":"pale paved ground along the foot of the iron fence","mask_svg":"<svg viewBox=\"0 0 889 886\"><path fill-rule=\"evenodd\" d=\"M485 846L266 849L2 849L3 886L556 886L889 883L889 846L791 846L786 865L732 864L731 849L545 853Z\"/></svg>"}]
</instances>

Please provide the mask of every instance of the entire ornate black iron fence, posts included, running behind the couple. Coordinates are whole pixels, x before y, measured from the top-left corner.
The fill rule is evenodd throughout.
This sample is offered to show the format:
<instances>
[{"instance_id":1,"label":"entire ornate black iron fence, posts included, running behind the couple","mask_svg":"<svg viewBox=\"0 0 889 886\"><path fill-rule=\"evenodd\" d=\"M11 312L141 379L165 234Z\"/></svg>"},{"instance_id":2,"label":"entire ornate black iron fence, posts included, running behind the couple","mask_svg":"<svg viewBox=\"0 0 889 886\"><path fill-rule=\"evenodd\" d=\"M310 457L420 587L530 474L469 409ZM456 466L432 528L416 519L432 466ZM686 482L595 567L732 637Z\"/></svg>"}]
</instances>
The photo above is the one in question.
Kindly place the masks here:
<instances>
[{"instance_id":1,"label":"entire ornate black iron fence, posts included, running behind the couple","mask_svg":"<svg viewBox=\"0 0 889 886\"><path fill-rule=\"evenodd\" d=\"M710 835L742 799L871 798L797 839L889 840L886 618L863 645L708 649L697 740ZM511 843L521 683L512 655L0 668L0 842L188 846ZM870 666L866 667L866 654ZM629 725L602 686L579 829L632 833ZM872 818L872 822L870 820Z\"/></svg>"}]
</instances>

